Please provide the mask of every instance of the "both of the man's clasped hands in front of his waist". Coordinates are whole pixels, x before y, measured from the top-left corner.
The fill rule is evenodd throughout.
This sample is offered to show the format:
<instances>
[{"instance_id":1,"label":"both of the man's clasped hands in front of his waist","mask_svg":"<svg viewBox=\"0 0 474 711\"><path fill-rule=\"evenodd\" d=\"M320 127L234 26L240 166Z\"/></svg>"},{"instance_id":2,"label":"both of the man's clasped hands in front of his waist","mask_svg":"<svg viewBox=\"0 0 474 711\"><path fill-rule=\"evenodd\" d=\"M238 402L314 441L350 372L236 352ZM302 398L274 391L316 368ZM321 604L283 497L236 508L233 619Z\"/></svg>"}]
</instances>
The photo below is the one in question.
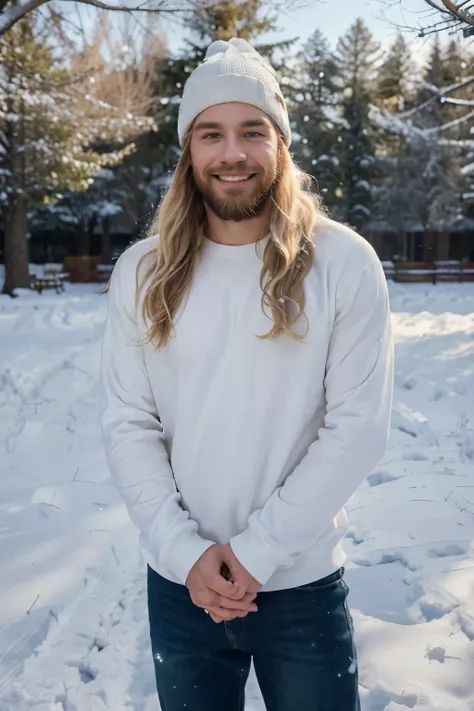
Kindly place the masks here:
<instances>
[{"instance_id":1,"label":"both of the man's clasped hands in front of his waist","mask_svg":"<svg viewBox=\"0 0 474 711\"><path fill-rule=\"evenodd\" d=\"M229 571L229 580L221 573L223 566ZM254 600L261 584L244 568L229 544L208 548L191 568L186 587L193 603L206 610L214 622L228 622L257 612Z\"/></svg>"}]
</instances>

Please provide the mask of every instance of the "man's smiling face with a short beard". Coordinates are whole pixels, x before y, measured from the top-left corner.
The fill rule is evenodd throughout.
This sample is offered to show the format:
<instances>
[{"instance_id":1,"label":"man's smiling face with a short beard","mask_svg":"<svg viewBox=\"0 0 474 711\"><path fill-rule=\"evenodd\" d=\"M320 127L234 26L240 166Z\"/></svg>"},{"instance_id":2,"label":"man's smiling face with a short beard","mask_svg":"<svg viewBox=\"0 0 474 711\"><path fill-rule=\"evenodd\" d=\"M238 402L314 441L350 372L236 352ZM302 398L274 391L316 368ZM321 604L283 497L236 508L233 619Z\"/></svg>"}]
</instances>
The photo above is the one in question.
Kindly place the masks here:
<instances>
[{"instance_id":1,"label":"man's smiling face with a short beard","mask_svg":"<svg viewBox=\"0 0 474 711\"><path fill-rule=\"evenodd\" d=\"M196 186L222 220L256 217L272 194L278 135L266 113L240 103L220 104L195 120L191 163Z\"/></svg>"}]
</instances>

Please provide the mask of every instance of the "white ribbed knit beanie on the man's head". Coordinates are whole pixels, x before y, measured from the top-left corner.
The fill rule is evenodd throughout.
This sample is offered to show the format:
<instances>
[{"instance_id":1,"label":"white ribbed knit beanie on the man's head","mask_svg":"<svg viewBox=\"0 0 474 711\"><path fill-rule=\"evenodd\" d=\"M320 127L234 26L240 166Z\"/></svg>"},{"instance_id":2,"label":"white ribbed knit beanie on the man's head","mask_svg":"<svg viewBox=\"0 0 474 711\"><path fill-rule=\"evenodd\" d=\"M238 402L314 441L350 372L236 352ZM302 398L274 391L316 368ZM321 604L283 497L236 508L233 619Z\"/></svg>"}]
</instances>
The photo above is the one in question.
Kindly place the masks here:
<instances>
[{"instance_id":1,"label":"white ribbed knit beanie on the man's head","mask_svg":"<svg viewBox=\"0 0 474 711\"><path fill-rule=\"evenodd\" d=\"M180 145L199 114L210 106L237 101L265 111L291 143L285 100L271 65L243 39L213 42L187 80L179 107Z\"/></svg>"}]
</instances>

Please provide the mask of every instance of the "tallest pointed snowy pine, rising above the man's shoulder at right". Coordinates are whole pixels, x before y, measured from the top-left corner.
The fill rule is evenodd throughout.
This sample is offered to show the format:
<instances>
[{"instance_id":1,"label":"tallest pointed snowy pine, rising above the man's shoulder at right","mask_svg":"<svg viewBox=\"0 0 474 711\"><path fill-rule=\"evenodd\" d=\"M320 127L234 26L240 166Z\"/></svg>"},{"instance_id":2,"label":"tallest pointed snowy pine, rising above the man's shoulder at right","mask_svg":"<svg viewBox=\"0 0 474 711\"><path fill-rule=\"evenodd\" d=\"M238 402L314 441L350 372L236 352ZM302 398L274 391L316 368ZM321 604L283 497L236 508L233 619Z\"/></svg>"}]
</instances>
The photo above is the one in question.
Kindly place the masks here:
<instances>
[{"instance_id":1,"label":"tallest pointed snowy pine, rising above the man's shoulder at right","mask_svg":"<svg viewBox=\"0 0 474 711\"><path fill-rule=\"evenodd\" d=\"M342 204L345 220L357 229L372 217L375 146L369 109L378 57L378 43L363 20L356 20L338 42L336 61L344 119L338 138Z\"/></svg>"}]
</instances>

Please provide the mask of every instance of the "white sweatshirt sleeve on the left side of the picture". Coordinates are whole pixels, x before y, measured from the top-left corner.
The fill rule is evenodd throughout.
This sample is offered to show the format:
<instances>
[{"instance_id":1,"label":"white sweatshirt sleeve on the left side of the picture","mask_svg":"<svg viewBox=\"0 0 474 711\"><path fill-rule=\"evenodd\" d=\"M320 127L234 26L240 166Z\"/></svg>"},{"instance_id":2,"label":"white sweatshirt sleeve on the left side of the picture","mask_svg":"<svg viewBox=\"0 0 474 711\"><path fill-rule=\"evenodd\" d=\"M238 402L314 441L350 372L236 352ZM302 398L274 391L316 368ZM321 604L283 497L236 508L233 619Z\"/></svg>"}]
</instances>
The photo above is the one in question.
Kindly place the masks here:
<instances>
[{"instance_id":1,"label":"white sweatshirt sleeve on the left side of the picture","mask_svg":"<svg viewBox=\"0 0 474 711\"><path fill-rule=\"evenodd\" d=\"M126 273L131 266L127 257L126 252L112 274L102 343L99 400L105 453L130 518L155 560L184 584L213 542L199 536L197 523L180 505L147 376L135 297L129 293L135 273Z\"/></svg>"}]
</instances>

